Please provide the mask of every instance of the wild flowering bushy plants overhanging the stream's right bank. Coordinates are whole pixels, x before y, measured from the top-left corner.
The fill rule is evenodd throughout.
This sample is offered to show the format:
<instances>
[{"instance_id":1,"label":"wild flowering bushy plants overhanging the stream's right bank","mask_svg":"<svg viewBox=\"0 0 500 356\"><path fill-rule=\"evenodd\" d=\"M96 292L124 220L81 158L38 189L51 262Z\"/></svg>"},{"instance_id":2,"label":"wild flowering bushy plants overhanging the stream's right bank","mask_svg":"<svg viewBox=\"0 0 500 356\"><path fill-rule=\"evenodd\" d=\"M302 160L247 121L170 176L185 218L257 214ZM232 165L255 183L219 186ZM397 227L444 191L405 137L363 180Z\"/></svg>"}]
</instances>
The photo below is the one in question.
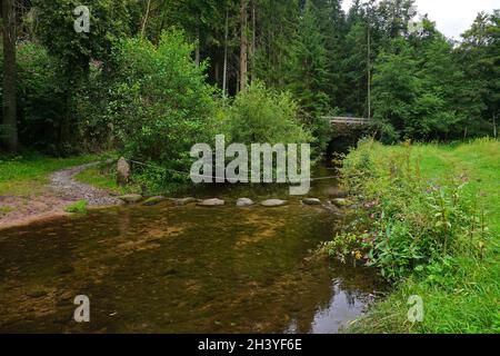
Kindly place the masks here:
<instances>
[{"instance_id":1,"label":"wild flowering bushy plants overhanging the stream's right bank","mask_svg":"<svg viewBox=\"0 0 500 356\"><path fill-rule=\"evenodd\" d=\"M360 209L348 231L328 244L330 254L357 255L390 280L458 254L480 257L488 230L468 178L427 181L409 145L386 160L377 145L361 142L344 161L343 182Z\"/></svg>"}]
</instances>

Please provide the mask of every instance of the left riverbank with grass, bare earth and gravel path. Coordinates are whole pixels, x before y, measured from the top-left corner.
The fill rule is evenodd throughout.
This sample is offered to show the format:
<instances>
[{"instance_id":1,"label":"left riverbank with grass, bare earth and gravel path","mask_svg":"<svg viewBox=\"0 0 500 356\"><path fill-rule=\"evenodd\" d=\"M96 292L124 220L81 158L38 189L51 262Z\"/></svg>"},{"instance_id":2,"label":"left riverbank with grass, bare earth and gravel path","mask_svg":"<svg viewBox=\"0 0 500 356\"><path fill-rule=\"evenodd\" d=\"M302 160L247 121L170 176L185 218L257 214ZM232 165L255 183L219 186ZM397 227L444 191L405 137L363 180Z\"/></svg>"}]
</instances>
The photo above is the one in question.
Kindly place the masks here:
<instances>
[{"instance_id":1,"label":"left riverbank with grass, bare earth and gravel path","mask_svg":"<svg viewBox=\"0 0 500 356\"><path fill-rule=\"evenodd\" d=\"M34 155L0 160L0 229L66 216L66 208L80 200L91 207L118 204L107 190L73 180L92 162L104 159L101 155Z\"/></svg>"}]
</instances>

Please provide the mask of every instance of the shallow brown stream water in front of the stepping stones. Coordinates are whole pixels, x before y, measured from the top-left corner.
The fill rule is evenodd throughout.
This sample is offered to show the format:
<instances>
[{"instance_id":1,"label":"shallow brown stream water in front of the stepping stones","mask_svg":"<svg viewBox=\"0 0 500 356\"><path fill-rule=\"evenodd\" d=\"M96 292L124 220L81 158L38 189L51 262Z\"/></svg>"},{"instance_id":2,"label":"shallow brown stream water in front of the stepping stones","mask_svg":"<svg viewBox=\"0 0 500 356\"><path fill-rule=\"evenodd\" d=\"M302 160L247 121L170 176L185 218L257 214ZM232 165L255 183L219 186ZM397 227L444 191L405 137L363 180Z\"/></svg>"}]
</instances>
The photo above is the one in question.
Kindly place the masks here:
<instances>
[{"instance_id":1,"label":"shallow brown stream water in front of the stepping stones","mask_svg":"<svg viewBox=\"0 0 500 356\"><path fill-rule=\"evenodd\" d=\"M339 224L294 200L166 202L0 231L0 332L336 333L377 289L371 271L310 258ZM77 295L89 324L72 320Z\"/></svg>"}]
</instances>

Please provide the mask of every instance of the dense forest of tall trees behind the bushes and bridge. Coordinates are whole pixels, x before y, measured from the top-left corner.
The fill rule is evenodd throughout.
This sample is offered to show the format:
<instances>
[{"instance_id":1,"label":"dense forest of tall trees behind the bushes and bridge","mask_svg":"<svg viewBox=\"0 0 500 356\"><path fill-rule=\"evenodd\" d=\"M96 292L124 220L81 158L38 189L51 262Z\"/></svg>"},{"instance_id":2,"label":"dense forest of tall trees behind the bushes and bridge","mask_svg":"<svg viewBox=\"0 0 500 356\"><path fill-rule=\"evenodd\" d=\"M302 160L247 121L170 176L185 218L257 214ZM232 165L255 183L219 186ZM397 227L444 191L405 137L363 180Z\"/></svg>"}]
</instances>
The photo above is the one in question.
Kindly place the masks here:
<instances>
[{"instance_id":1,"label":"dense forest of tall trees behind the bushes and bridge","mask_svg":"<svg viewBox=\"0 0 500 356\"><path fill-rule=\"evenodd\" d=\"M19 3L20 141L52 154L113 145L108 100L127 106L137 93L109 98L108 89L123 75L116 67L120 51L112 49L128 40L143 46L137 40L142 38L152 51L171 27L193 43L184 55L204 68L198 87L210 83L236 97L246 82L260 80L290 91L321 149L331 132L320 118L331 112L373 117L386 142L498 134L498 11L480 13L454 42L431 19L412 26L413 0L357 0L347 12L340 0L92 0L89 33L73 30L78 1ZM26 60L37 63L27 67ZM41 68L47 70L32 76ZM171 93L180 99L182 90Z\"/></svg>"}]
</instances>

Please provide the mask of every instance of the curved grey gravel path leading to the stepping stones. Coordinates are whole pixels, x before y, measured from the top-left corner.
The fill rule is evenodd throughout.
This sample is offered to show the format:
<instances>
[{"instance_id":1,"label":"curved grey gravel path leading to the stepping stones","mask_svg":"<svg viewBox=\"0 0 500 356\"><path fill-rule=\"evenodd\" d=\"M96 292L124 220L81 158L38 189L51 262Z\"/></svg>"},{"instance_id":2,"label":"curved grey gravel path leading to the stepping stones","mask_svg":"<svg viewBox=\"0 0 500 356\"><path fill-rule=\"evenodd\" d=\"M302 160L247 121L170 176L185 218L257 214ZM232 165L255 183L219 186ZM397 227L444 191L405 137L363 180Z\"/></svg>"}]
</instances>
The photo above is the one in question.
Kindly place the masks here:
<instances>
[{"instance_id":1,"label":"curved grey gravel path leading to the stepping stones","mask_svg":"<svg viewBox=\"0 0 500 356\"><path fill-rule=\"evenodd\" d=\"M111 164L112 160L106 161ZM121 200L111 197L108 191L74 180L74 176L102 162L87 164L57 171L50 176L50 188L64 200L87 200L90 206L112 206Z\"/></svg>"}]
</instances>

